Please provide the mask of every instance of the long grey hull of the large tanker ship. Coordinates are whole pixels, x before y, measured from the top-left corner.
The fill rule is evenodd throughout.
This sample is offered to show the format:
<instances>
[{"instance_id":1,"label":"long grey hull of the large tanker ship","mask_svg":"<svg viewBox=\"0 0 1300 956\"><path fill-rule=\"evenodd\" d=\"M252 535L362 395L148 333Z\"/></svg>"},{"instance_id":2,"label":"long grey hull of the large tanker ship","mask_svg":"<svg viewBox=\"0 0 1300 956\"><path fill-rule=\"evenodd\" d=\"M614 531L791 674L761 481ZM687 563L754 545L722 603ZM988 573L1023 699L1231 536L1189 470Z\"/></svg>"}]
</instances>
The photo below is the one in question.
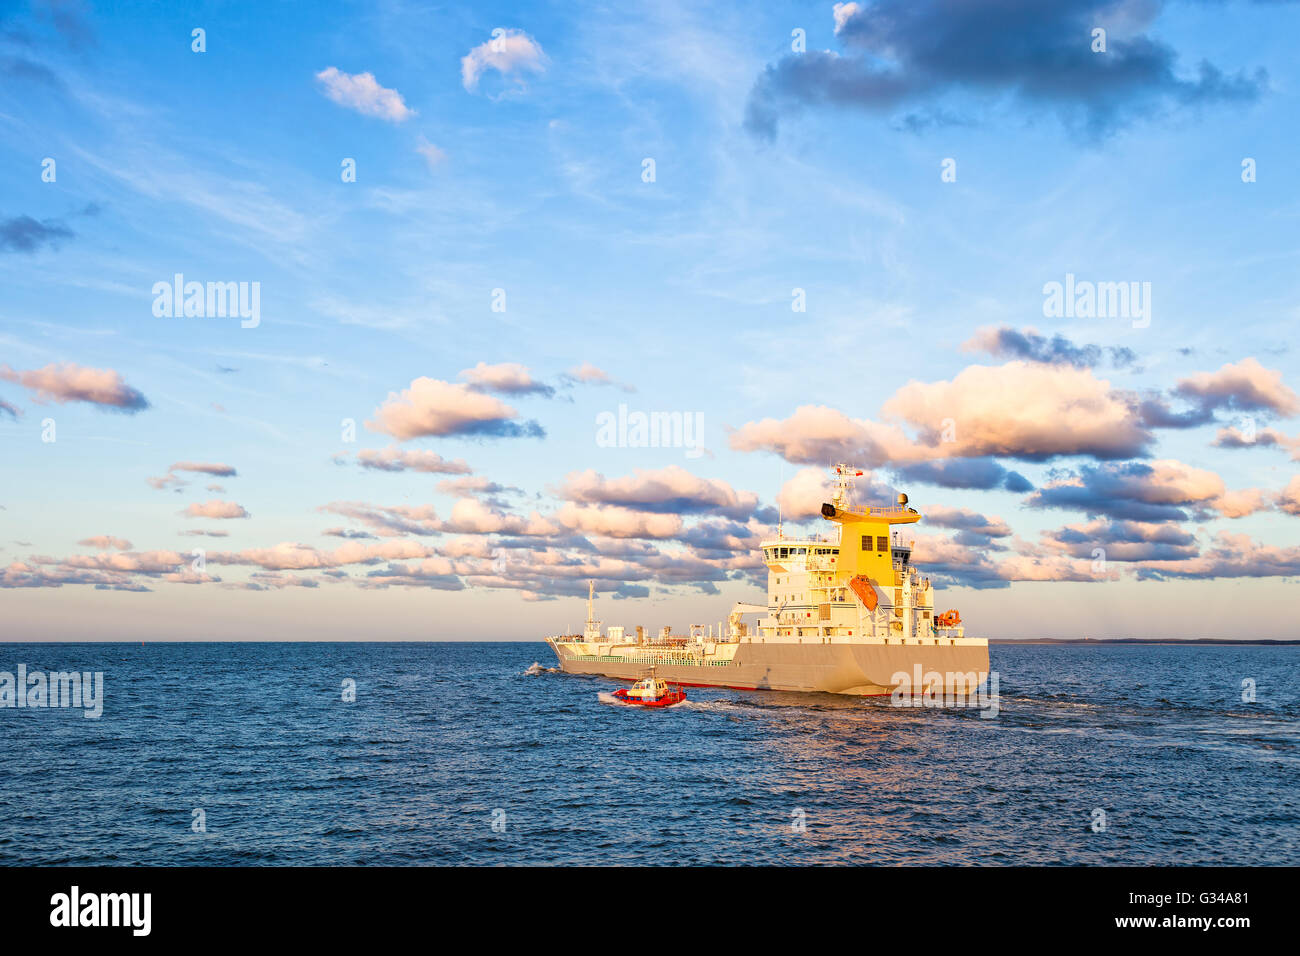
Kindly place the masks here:
<instances>
[{"instance_id":1,"label":"long grey hull of the large tanker ship","mask_svg":"<svg viewBox=\"0 0 1300 956\"><path fill-rule=\"evenodd\" d=\"M945 692L974 692L988 676L988 644L742 644L725 665L673 663L662 658L601 656L593 645L550 641L566 674L638 680L655 675L686 687L738 691L798 691L880 696L920 683ZM640 659L638 659L640 658ZM905 680L900 674L907 675ZM919 689L919 688L918 688Z\"/></svg>"}]
</instances>

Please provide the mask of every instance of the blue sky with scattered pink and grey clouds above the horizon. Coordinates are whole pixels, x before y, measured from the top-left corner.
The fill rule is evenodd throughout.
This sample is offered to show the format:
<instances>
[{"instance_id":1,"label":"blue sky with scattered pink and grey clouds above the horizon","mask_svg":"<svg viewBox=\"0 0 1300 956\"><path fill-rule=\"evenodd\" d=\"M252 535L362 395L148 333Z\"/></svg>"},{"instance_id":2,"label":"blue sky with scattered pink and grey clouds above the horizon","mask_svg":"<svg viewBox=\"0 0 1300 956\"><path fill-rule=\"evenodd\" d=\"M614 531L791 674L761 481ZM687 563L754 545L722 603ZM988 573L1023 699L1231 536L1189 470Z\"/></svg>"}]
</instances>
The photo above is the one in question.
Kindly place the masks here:
<instances>
[{"instance_id":1,"label":"blue sky with scattered pink and grey clouds above the horizon","mask_svg":"<svg viewBox=\"0 0 1300 956\"><path fill-rule=\"evenodd\" d=\"M0 639L1300 637L1297 5L758 7L0 3Z\"/></svg>"}]
</instances>

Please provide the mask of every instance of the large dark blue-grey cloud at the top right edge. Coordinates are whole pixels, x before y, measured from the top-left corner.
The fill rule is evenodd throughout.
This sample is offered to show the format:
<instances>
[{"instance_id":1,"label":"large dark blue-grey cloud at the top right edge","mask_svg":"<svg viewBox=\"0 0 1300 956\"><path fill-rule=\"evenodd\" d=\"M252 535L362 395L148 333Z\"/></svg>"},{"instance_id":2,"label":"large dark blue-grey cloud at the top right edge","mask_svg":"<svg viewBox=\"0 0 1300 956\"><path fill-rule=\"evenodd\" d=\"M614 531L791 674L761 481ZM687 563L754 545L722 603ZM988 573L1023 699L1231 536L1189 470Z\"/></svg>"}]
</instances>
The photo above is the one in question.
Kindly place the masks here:
<instances>
[{"instance_id":1,"label":"large dark blue-grey cloud at the top right edge","mask_svg":"<svg viewBox=\"0 0 1300 956\"><path fill-rule=\"evenodd\" d=\"M1101 138L1139 117L1209 103L1249 103L1268 82L1225 75L1202 61L1179 74L1176 52L1143 30L1162 0L876 0L835 8L842 52L793 53L755 81L745 127L772 139L783 113L840 107L885 113L1008 99L1054 112L1067 129ZM1105 53L1091 49L1109 27Z\"/></svg>"}]
</instances>

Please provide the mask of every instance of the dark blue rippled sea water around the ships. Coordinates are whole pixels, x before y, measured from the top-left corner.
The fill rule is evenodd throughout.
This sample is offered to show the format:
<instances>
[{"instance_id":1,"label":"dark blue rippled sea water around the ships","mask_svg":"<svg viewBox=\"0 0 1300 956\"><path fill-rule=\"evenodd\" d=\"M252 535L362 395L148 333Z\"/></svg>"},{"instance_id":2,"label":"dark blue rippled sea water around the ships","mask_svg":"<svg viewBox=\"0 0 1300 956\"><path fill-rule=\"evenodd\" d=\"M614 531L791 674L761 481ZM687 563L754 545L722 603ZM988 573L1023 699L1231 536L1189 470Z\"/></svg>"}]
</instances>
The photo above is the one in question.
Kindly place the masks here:
<instances>
[{"instance_id":1,"label":"dark blue rippled sea water around the ships","mask_svg":"<svg viewBox=\"0 0 1300 956\"><path fill-rule=\"evenodd\" d=\"M99 719L0 709L0 862L1300 862L1300 648L991 654L988 719L612 706L532 643L0 644L104 672Z\"/></svg>"}]
</instances>

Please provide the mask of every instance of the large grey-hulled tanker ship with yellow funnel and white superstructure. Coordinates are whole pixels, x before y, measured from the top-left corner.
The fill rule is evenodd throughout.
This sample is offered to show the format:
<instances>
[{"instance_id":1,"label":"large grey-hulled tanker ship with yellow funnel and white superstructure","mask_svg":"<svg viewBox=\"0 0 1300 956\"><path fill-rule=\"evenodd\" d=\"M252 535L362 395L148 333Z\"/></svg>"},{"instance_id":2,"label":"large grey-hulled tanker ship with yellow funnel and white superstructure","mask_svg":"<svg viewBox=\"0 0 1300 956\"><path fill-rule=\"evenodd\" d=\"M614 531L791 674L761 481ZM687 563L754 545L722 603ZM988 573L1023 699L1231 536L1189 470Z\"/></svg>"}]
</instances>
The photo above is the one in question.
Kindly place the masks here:
<instances>
[{"instance_id":1,"label":"large grey-hulled tanker ship with yellow funnel and white superstructure","mask_svg":"<svg viewBox=\"0 0 1300 956\"><path fill-rule=\"evenodd\" d=\"M685 687L800 691L855 696L972 695L988 676L988 640L967 637L961 614L935 613L935 589L911 563L900 528L922 515L897 503L858 507L848 464L832 470L822 505L828 535L760 541L767 604L736 604L725 626L693 624L650 637L642 627L602 628L589 584L582 633L547 637L566 674L638 680L650 669ZM755 622L746 615L759 614Z\"/></svg>"}]
</instances>

